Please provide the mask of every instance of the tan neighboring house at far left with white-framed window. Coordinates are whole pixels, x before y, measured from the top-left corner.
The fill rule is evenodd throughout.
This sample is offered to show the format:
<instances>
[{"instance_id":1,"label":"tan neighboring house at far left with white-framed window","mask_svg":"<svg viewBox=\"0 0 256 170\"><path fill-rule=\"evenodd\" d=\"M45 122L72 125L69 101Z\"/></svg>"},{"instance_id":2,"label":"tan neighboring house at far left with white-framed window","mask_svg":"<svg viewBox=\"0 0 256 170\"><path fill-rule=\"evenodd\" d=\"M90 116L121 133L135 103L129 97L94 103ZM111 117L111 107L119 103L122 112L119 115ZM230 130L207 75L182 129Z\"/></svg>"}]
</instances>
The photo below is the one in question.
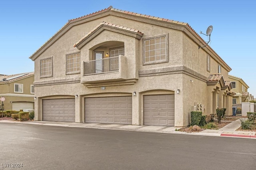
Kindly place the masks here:
<instances>
[{"instance_id":1,"label":"tan neighboring house at far left with white-framed window","mask_svg":"<svg viewBox=\"0 0 256 170\"><path fill-rule=\"evenodd\" d=\"M4 110L34 109L33 82L34 72L0 75L0 97L6 99Z\"/></svg>"}]
</instances>

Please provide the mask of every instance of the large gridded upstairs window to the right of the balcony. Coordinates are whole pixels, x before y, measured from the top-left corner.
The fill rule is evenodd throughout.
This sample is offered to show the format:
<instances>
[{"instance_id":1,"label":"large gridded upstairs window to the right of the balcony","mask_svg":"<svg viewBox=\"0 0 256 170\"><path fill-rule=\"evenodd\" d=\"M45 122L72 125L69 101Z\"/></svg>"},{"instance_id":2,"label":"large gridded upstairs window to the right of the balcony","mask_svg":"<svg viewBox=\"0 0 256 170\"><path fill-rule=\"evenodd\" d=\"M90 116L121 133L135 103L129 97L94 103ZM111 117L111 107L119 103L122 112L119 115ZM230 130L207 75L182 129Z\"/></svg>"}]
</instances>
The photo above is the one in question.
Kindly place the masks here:
<instances>
[{"instance_id":1,"label":"large gridded upstairs window to the right of the balcony","mask_svg":"<svg viewBox=\"0 0 256 170\"><path fill-rule=\"evenodd\" d=\"M166 59L166 37L145 40L145 62Z\"/></svg>"}]
</instances>

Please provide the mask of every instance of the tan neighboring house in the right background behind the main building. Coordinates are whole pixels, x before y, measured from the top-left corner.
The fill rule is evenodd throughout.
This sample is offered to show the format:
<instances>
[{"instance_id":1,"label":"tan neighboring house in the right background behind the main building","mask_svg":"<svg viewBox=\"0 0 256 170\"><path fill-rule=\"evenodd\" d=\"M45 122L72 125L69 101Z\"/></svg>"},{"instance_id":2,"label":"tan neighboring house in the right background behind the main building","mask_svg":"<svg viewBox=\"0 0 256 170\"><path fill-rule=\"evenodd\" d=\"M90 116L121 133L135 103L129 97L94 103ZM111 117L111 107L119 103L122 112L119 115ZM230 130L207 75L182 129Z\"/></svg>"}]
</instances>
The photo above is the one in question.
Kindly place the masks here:
<instances>
[{"instance_id":1,"label":"tan neighboring house in the right background behind the main building","mask_svg":"<svg viewBox=\"0 0 256 170\"><path fill-rule=\"evenodd\" d=\"M233 75L228 75L229 80L232 83L232 91L236 93L233 96L233 104L241 104L242 102L249 102L252 96L248 93L249 86L240 78Z\"/></svg>"}]
</instances>

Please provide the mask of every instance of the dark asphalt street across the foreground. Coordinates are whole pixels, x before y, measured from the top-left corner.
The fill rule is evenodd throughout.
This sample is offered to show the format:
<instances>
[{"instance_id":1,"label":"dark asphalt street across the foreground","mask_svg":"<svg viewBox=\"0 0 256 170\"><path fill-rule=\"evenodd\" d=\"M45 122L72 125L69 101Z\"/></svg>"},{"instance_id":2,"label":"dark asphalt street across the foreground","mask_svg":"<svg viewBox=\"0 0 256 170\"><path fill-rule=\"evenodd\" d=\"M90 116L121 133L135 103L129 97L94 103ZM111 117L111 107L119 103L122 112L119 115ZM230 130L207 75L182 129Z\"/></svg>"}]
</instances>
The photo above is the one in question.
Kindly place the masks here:
<instances>
[{"instance_id":1,"label":"dark asphalt street across the foreground","mask_svg":"<svg viewBox=\"0 0 256 170\"><path fill-rule=\"evenodd\" d=\"M252 170L256 143L247 138L0 123L0 169Z\"/></svg>"}]
</instances>

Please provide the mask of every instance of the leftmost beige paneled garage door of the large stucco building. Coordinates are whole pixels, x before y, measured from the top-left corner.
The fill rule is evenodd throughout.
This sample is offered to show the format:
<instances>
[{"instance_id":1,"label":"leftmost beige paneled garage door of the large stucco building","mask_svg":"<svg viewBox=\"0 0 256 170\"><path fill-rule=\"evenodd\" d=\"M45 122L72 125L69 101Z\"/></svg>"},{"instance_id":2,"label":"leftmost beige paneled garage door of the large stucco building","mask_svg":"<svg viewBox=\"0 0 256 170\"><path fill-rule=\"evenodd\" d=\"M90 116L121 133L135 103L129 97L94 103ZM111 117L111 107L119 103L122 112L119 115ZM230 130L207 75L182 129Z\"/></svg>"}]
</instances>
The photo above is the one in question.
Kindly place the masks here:
<instances>
[{"instance_id":1,"label":"leftmost beige paneled garage door of the large stucco building","mask_svg":"<svg viewBox=\"0 0 256 170\"><path fill-rule=\"evenodd\" d=\"M43 121L75 121L75 99L44 99Z\"/></svg>"}]
</instances>

